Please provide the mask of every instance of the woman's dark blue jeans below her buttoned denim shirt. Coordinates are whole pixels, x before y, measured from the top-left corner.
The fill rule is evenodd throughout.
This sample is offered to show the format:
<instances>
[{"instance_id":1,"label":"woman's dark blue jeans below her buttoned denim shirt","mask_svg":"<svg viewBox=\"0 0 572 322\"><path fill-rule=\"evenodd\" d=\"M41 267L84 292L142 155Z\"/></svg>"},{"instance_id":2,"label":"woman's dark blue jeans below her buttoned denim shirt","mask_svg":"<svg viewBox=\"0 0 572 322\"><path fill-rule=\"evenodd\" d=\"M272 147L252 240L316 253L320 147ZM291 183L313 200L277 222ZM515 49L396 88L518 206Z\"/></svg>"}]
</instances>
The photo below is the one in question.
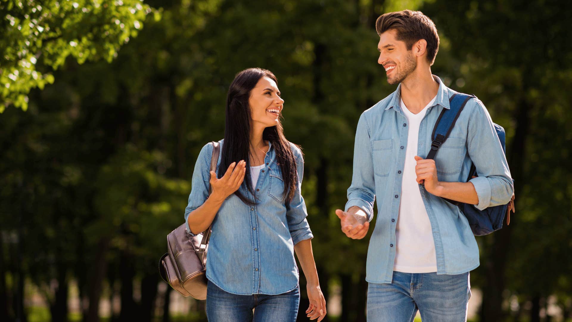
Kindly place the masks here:
<instances>
[{"instance_id":1,"label":"woman's dark blue jeans below her buttoned denim shirt","mask_svg":"<svg viewBox=\"0 0 572 322\"><path fill-rule=\"evenodd\" d=\"M278 295L237 295L210 281L206 286L206 317L210 322L295 322L299 304L298 287Z\"/></svg>"}]
</instances>

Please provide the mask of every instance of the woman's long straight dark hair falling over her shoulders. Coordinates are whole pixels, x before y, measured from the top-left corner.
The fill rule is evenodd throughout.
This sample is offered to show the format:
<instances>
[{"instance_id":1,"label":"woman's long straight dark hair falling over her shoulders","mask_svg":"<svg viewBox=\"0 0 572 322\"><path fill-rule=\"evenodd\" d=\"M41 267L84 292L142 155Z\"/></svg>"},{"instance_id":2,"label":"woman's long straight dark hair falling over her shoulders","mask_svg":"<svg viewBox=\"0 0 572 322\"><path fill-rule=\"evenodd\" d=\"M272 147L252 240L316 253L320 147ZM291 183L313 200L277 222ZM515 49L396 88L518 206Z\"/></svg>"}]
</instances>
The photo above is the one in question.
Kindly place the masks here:
<instances>
[{"instance_id":1,"label":"woman's long straight dark hair falling over her shoulders","mask_svg":"<svg viewBox=\"0 0 572 322\"><path fill-rule=\"evenodd\" d=\"M248 189L252 195L255 195L250 180L251 165L249 158L252 116L248 99L260 78L265 76L278 84L276 76L270 70L249 68L236 74L235 80L232 81L231 87L228 89L224 144L218 173L218 178L221 178L231 163L245 160L247 163L246 174L241 187ZM277 125L264 129L262 138L268 140L276 151L276 161L284 179L283 197L286 197L286 202L290 202L294 197L298 179L296 158L290 147L290 142L284 136L280 119ZM245 196L240 190L237 190L235 195L247 205L255 205L256 201Z\"/></svg>"}]
</instances>

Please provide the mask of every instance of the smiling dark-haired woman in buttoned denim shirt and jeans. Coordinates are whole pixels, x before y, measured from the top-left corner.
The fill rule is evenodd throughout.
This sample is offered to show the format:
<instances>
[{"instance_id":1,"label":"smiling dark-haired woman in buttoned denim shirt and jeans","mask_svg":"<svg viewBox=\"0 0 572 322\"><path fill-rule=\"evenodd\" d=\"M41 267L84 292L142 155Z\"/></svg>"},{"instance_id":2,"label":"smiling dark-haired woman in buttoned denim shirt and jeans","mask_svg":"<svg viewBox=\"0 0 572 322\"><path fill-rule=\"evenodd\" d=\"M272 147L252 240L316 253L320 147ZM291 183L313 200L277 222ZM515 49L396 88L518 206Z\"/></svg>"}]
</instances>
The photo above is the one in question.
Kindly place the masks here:
<instances>
[{"instance_id":1,"label":"smiling dark-haired woman in buttoned denim shirt and jeans","mask_svg":"<svg viewBox=\"0 0 572 322\"><path fill-rule=\"evenodd\" d=\"M212 223L209 321L295 321L300 292L294 252L308 281L308 317L321 321L326 314L300 195L304 160L284 137L283 104L272 72L238 73L228 91L217 172L209 171L211 143L194 167L185 220L193 234Z\"/></svg>"}]
</instances>

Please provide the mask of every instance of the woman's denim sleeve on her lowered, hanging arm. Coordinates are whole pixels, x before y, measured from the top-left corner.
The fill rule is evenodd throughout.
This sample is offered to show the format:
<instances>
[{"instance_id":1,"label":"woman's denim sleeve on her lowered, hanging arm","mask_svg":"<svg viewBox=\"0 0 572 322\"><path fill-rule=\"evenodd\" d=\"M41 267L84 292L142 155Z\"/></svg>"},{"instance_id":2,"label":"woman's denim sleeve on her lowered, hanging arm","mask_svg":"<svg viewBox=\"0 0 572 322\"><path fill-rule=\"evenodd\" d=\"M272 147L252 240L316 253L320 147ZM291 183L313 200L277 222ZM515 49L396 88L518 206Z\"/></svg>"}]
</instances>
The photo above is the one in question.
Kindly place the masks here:
<instances>
[{"instance_id":1,"label":"woman's denim sleeve on her lowered, hanging arm","mask_svg":"<svg viewBox=\"0 0 572 322\"><path fill-rule=\"evenodd\" d=\"M292 237L294 245L305 239L312 239L314 236L306 219L308 211L306 203L301 194L302 177L304 176L304 159L297 147L292 147L296 156L296 170L298 172L298 181L296 182L296 192L291 202L286 203L286 219L288 221L288 229Z\"/></svg>"}]
</instances>

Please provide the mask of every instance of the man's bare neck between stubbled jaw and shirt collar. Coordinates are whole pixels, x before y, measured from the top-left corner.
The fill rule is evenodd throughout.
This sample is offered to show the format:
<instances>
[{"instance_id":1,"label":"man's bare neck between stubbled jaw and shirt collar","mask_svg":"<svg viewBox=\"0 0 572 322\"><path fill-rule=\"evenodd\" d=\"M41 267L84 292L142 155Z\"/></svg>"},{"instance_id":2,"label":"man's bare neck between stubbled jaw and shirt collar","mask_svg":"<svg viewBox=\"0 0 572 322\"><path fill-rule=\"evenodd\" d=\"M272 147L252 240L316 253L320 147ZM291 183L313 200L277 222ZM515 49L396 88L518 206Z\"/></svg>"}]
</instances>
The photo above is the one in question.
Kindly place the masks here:
<instances>
[{"instance_id":1,"label":"man's bare neck between stubbled jaw and shirt collar","mask_svg":"<svg viewBox=\"0 0 572 322\"><path fill-rule=\"evenodd\" d=\"M421 112L438 91L439 83L433 78L431 68L415 70L401 83L401 99L414 114Z\"/></svg>"}]
</instances>

